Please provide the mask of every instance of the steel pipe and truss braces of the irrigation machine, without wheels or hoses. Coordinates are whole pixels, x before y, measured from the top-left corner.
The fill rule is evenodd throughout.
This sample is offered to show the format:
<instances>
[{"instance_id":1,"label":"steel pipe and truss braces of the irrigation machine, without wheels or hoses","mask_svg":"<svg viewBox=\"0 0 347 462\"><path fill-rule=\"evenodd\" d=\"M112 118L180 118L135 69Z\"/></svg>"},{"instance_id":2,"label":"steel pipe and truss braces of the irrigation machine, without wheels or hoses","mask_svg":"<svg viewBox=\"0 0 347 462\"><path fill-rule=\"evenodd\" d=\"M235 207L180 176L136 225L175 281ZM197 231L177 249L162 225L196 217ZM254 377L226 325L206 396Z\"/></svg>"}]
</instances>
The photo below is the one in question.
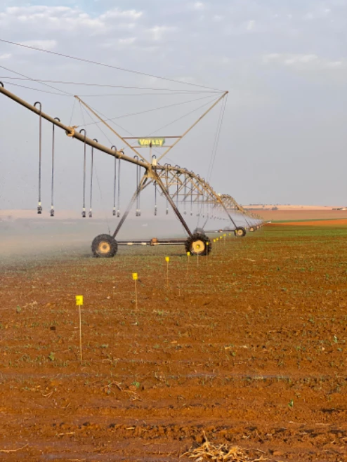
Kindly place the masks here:
<instances>
[{"instance_id":1,"label":"steel pipe and truss braces of the irrigation machine, without wheels or hoses","mask_svg":"<svg viewBox=\"0 0 347 462\"><path fill-rule=\"evenodd\" d=\"M22 100L17 95L14 95L10 91L6 90L2 82L0 82L0 93L7 96L8 98L11 98L11 100L14 100L15 103L18 103L26 107L28 110L39 115L40 119L46 119L46 121L51 122L53 126L58 126L59 128L62 128L67 134L67 136L71 138L76 138L77 140L84 143L84 145L89 145L101 152L105 152L105 154L109 154L112 157L122 159L123 161L127 161L131 164L136 164L137 166L140 166L141 168L145 169L145 173L143 177L140 179L140 183L138 184L136 192L133 194L133 198L131 199L129 207L124 213L124 216L122 216L122 219L120 220L120 223L114 232L114 237L117 235L117 232L124 223L126 216L128 216L131 206L136 201L136 197L138 197L138 194L140 194L140 192L143 189L145 189L145 187L148 187L148 185L150 185L151 183L154 184L155 187L159 190L159 193L166 198L167 204L170 204L171 208L174 210L174 213L176 213L177 218L181 221L183 227L190 236L192 235L192 232L190 232L190 229L188 225L185 223L185 220L181 212L178 210L178 203L181 203L184 206L183 215L185 215L186 213L192 213L191 209L188 210L189 204L195 204L195 206L198 205L198 214L201 214L203 218L206 218L205 224L207 223L207 220L209 220L209 218L222 218L222 215L223 218L225 218L226 220L230 220L230 224L232 224L235 229L237 225L235 223L235 220L233 219L233 216L231 216L232 213L240 213L244 217L244 220L246 221L247 225L249 226L254 225L253 220L256 220L256 222L259 223L259 218L257 216L254 216L249 211L243 209L242 206L237 204L233 197L231 197L228 194L218 194L216 191L214 191L211 185L209 185L209 183L206 180L204 180L204 178L201 178L194 172L188 171L187 169L183 169L177 165L171 166L170 164L159 164L159 161L175 145L177 145L178 142L182 138L184 138L184 136L187 135L187 133L189 133L190 130L192 130L192 128L194 128L203 117L205 117L221 100L223 100L223 98L225 98L228 92L223 93L221 97L218 98L218 100L216 100L211 105L211 107L209 107L209 109L206 112L204 112L204 114L202 114L202 116L199 117L199 119L197 119L197 121L195 121L195 123L192 124L192 126L190 126L185 131L185 133L183 133L182 136L167 137L176 138L176 140L171 146L166 147L166 150L163 154L159 156L159 159L156 159L155 156L152 156L152 147L150 147L150 161L146 160L145 157L143 157L143 155L140 154L140 152L138 152L138 150L136 150L136 148L133 147L127 141L129 140L129 138L124 138L120 136L119 133L117 133L117 131L114 130L114 128L107 124L106 121L101 119L101 117L94 110L92 110L91 107L86 105L86 103L84 103L84 101L82 101L78 97L76 98L80 101L80 103L82 103L88 110L90 110L103 124L105 124L105 126L107 126L107 128L110 128L110 130L120 140L124 142L126 147L128 147L136 153L135 157L130 157L124 154L124 150L115 150L114 146L106 147L98 143L97 140L88 138L85 132L84 134L79 133L79 131L76 130L76 126L67 126L60 122L58 118L50 117L48 114L42 112L41 103L39 104L39 107L36 107L35 105L30 105L30 103L27 103L25 100Z\"/></svg>"}]
</instances>

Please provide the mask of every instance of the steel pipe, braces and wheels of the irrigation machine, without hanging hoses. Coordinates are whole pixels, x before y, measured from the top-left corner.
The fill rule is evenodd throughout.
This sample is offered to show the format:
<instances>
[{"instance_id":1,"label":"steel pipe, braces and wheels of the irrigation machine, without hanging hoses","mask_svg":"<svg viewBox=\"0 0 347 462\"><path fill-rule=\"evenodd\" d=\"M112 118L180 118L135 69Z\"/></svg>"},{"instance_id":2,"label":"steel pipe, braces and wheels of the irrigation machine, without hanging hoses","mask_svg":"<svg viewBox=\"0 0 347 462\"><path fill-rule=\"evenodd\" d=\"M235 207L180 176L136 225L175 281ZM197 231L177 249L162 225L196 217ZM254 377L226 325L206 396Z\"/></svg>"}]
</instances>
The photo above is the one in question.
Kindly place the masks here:
<instances>
[{"instance_id":1,"label":"steel pipe, braces and wheels of the irrigation machine, without hanging hoses","mask_svg":"<svg viewBox=\"0 0 347 462\"><path fill-rule=\"evenodd\" d=\"M114 146L107 147L98 143L96 139L91 139L86 136L86 131L81 130L77 131L77 126L67 126L63 124L60 119L53 118L48 114L45 114L42 111L41 103L37 102L34 105L30 105L25 100L22 100L17 95L11 93L10 91L4 88L4 84L0 82L0 93L11 98L16 103L26 107L28 110L37 114L40 118L40 158L41 158L41 119L45 119L46 121L51 122L54 126L58 126L62 128L67 136L71 138L76 138L77 140L84 143L84 145L89 145L92 149L99 150L100 152L104 152L112 157L120 159L120 161L127 161L131 164L135 164L136 166L144 169L143 176L140 177L138 182L138 187L129 202L129 206L127 207L126 211L122 215L119 223L117 225L116 230L114 231L112 237L110 239L114 239L117 237L119 230L121 229L124 221L126 220L133 204L135 204L136 199L139 197L140 193L145 190L149 185L154 185L156 191L162 195L166 199L166 213L168 213L169 206L171 209L174 210L178 220L181 221L181 224L185 228L185 231L188 234L188 241L183 241L182 239L169 239L169 241L158 241L157 239L152 239L150 242L143 242L143 241L132 241L132 242L116 242L114 247L114 242L110 241L110 239L106 239L106 235L102 235L103 239L101 239L101 244L99 242L93 242L92 249L96 256L113 256L117 252L117 244L182 244L183 242L186 244L186 249L192 251L192 253L207 253L211 250L211 242L203 233L205 226L207 225L209 219L220 219L226 220L228 222L228 226L225 229L235 232L236 236L244 236L246 234L246 227L248 230L254 231L263 225L263 222L260 217L255 216L253 213L245 210L240 204L237 204L235 199L228 194L219 194L217 193L213 187L209 184L207 180L201 178L199 175L194 173L193 171L188 171L188 169L181 168L180 166L171 166L170 164L160 164L159 161L174 147L178 144L182 138L184 138L187 133L189 133L192 128L194 128L197 123L205 117L223 98L228 92L223 93L218 100L214 104L209 107L209 109L202 114L197 121L195 121L192 126L188 128L188 130L183 133L182 136L166 136L165 138L173 138L174 142L170 146L166 146L166 150L163 154L157 157L152 155L152 145L150 145L150 160L148 161L143 157L143 155L138 151L138 147L134 147L129 143L129 140L135 138L126 138L122 137L117 131L114 130L107 121L103 120L94 110L91 109L84 101L82 101L78 96L77 100L81 104L86 107L95 117L97 117L100 122L105 124L107 128L109 128L120 140L124 142L126 147L130 150L135 152L135 156L130 157L129 155L124 154L124 150L117 150ZM83 132L83 133L82 133ZM54 132L53 132L54 133ZM140 137L138 137L140 138ZM145 137L148 138L148 137ZM164 138L164 137L163 137ZM137 139L137 138L136 138ZM192 232L190 227L188 227L184 216L192 215L192 206L197 206L198 212L197 216L202 218L202 229L200 232ZM183 212L179 210L179 206L183 206ZM39 199L39 207L38 213L41 213L41 199ZM155 214L157 214L157 203L155 204ZM140 215L140 210L136 210L136 216ZM235 216L240 215L244 219L246 223L245 227L237 226L235 222ZM85 212L82 213L82 216L86 216ZM97 239L97 238L96 238ZM94 241L96 240L94 239ZM100 241L100 239L99 239ZM110 242L109 242L110 241ZM196 242L199 242L197 246L195 245ZM208 242L208 244L207 244ZM206 246L207 244L207 246ZM115 251L112 252L115 248ZM93 248L94 247L94 248ZM113 254L112 254L113 253Z\"/></svg>"}]
</instances>

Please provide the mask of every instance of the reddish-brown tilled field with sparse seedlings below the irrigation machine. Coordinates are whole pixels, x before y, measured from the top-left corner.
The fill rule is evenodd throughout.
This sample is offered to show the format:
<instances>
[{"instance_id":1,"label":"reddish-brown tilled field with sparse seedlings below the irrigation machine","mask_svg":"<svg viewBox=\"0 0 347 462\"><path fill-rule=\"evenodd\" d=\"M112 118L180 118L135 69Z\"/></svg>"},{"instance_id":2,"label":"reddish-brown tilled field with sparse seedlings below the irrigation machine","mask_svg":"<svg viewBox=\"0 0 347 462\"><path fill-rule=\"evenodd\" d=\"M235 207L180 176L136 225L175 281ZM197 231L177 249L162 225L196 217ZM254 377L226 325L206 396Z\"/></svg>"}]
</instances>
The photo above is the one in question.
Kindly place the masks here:
<instances>
[{"instance_id":1,"label":"reddish-brown tilled field with sparse seedlings below the irrigation machine","mask_svg":"<svg viewBox=\"0 0 347 462\"><path fill-rule=\"evenodd\" d=\"M266 227L189 268L177 247L6 260L1 461L178 461L205 433L252 459L346 462L346 237Z\"/></svg>"}]
</instances>

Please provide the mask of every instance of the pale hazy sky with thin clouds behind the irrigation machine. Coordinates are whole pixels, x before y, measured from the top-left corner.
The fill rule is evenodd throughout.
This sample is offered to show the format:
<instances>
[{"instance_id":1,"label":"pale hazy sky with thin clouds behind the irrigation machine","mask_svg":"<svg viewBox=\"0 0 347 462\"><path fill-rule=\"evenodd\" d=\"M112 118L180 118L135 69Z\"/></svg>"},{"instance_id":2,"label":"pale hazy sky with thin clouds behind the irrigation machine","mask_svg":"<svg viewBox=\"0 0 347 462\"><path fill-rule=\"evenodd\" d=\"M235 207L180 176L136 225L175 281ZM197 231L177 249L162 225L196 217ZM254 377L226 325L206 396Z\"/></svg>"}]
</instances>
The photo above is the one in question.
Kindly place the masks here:
<instances>
[{"instance_id":1,"label":"pale hazy sky with thin clouds behind the irrigation machine","mask_svg":"<svg viewBox=\"0 0 347 462\"><path fill-rule=\"evenodd\" d=\"M228 90L211 184L241 204L347 204L346 34L347 0L5 0L0 4L1 39ZM80 128L89 116L82 115L79 105L72 113L72 96L41 93L39 88L55 90L6 80L17 74L1 66L34 79L204 90L0 43L0 76L8 82L6 88L31 103L40 100L45 112ZM11 81L37 91L12 86ZM121 92L51 85L72 95ZM204 105L209 99L199 98L206 95L85 99L107 117L197 100L117 119L122 128L144 136ZM172 164L207 176L219 111L217 107L169 154ZM162 134L182 133L199 113ZM1 209L36 206L37 124L37 116L0 97ZM120 145L112 133L105 132L109 143L95 125L87 131L107 145ZM44 206L48 209L49 124L44 124L43 155ZM82 155L81 143L57 133L56 202L60 208L79 209ZM96 202L102 200L106 208L112 207L112 159L98 155L96 168L100 183ZM130 194L134 169L124 166L122 178L124 194Z\"/></svg>"}]
</instances>

